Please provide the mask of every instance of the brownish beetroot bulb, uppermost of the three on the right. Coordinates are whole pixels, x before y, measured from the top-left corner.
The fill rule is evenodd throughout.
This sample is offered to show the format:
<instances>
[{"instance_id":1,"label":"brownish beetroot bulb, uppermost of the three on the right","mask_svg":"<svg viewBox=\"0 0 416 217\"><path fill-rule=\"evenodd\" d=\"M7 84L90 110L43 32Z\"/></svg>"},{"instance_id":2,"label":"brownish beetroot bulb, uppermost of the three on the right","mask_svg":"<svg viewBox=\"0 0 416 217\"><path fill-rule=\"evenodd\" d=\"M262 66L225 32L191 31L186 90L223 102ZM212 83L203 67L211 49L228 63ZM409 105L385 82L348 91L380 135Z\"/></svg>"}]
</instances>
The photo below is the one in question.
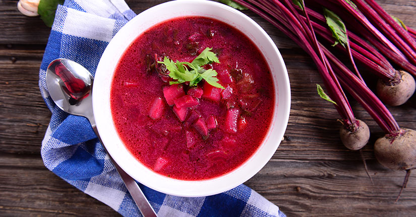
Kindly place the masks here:
<instances>
[{"instance_id":1,"label":"brownish beetroot bulb, uppermost of the three on the right","mask_svg":"<svg viewBox=\"0 0 416 217\"><path fill-rule=\"evenodd\" d=\"M399 77L400 80L397 84L386 84L381 79L377 82L377 95L388 105L404 104L414 93L416 84L413 77L405 71L400 71Z\"/></svg>"}]
</instances>

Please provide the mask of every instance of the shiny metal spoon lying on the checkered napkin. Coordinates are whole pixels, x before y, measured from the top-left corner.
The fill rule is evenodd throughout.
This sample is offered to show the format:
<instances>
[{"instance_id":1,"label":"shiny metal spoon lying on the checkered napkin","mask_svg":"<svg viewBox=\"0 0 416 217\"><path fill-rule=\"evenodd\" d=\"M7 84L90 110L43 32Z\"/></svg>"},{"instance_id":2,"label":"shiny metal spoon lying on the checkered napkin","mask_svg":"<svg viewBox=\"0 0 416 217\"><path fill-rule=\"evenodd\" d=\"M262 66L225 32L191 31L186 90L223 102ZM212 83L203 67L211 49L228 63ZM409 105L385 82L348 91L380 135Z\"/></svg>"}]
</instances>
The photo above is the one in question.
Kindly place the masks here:
<instances>
[{"instance_id":1,"label":"shiny metal spoon lying on the checkered napkin","mask_svg":"<svg viewBox=\"0 0 416 217\"><path fill-rule=\"evenodd\" d=\"M46 86L55 104L69 114L87 118L98 139L101 141L92 112L93 80L94 77L92 77L87 69L67 59L52 61L46 71ZM123 171L111 156L110 159L143 216L157 216L136 181Z\"/></svg>"}]
</instances>

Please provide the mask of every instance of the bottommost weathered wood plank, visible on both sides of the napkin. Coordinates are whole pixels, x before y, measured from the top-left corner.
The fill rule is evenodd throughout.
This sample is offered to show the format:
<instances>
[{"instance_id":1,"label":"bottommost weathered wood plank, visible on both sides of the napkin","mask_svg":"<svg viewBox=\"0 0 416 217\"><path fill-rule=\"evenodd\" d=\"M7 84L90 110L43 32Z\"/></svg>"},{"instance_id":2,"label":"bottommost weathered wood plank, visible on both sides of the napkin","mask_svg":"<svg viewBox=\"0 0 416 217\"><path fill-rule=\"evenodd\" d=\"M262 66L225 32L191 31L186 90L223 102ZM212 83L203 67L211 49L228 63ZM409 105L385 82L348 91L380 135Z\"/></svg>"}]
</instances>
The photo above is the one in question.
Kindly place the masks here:
<instances>
[{"instance_id":1,"label":"bottommost weathered wood plank, visible on both sides of the napkin","mask_svg":"<svg viewBox=\"0 0 416 217\"><path fill-rule=\"evenodd\" d=\"M111 208L53 175L34 155L1 154L0 165L2 213L115 215ZM369 169L374 186L361 162L276 159L245 184L288 216L416 214L416 177L410 177L401 199L393 203L404 173L386 170L374 160L369 161Z\"/></svg>"}]
</instances>

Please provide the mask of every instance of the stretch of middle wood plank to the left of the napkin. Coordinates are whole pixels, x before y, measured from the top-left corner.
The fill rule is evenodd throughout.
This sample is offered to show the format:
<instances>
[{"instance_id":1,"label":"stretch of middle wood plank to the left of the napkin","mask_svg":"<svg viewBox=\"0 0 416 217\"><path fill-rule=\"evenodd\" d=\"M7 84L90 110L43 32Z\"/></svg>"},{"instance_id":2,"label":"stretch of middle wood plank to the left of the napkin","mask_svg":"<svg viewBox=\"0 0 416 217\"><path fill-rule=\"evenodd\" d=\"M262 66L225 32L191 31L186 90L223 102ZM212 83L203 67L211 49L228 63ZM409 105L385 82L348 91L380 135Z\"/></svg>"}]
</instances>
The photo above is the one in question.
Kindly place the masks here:
<instances>
[{"instance_id":1,"label":"stretch of middle wood plank to the left of the napkin","mask_svg":"<svg viewBox=\"0 0 416 217\"><path fill-rule=\"evenodd\" d=\"M50 118L38 86L44 45L3 47L0 48L0 152L40 154Z\"/></svg>"}]
</instances>

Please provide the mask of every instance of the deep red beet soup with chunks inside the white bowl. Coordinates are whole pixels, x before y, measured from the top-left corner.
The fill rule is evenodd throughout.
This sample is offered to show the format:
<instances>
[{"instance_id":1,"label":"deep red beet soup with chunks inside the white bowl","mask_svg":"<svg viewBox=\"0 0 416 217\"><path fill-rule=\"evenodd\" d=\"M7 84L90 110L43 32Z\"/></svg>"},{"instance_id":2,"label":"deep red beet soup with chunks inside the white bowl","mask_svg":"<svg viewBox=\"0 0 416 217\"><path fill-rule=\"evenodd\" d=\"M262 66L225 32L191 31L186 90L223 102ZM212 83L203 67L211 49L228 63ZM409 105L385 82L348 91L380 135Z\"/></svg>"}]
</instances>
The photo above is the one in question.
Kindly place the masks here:
<instances>
[{"instance_id":1,"label":"deep red beet soup with chunks inside the white bowl","mask_svg":"<svg viewBox=\"0 0 416 217\"><path fill-rule=\"evenodd\" d=\"M226 89L204 80L172 86L153 65L165 56L192 62L206 47L220 63L205 68L216 70ZM113 76L110 106L118 135L142 164L170 178L206 180L241 166L259 148L274 91L270 69L247 36L218 20L182 17L151 27L129 46Z\"/></svg>"}]
</instances>

